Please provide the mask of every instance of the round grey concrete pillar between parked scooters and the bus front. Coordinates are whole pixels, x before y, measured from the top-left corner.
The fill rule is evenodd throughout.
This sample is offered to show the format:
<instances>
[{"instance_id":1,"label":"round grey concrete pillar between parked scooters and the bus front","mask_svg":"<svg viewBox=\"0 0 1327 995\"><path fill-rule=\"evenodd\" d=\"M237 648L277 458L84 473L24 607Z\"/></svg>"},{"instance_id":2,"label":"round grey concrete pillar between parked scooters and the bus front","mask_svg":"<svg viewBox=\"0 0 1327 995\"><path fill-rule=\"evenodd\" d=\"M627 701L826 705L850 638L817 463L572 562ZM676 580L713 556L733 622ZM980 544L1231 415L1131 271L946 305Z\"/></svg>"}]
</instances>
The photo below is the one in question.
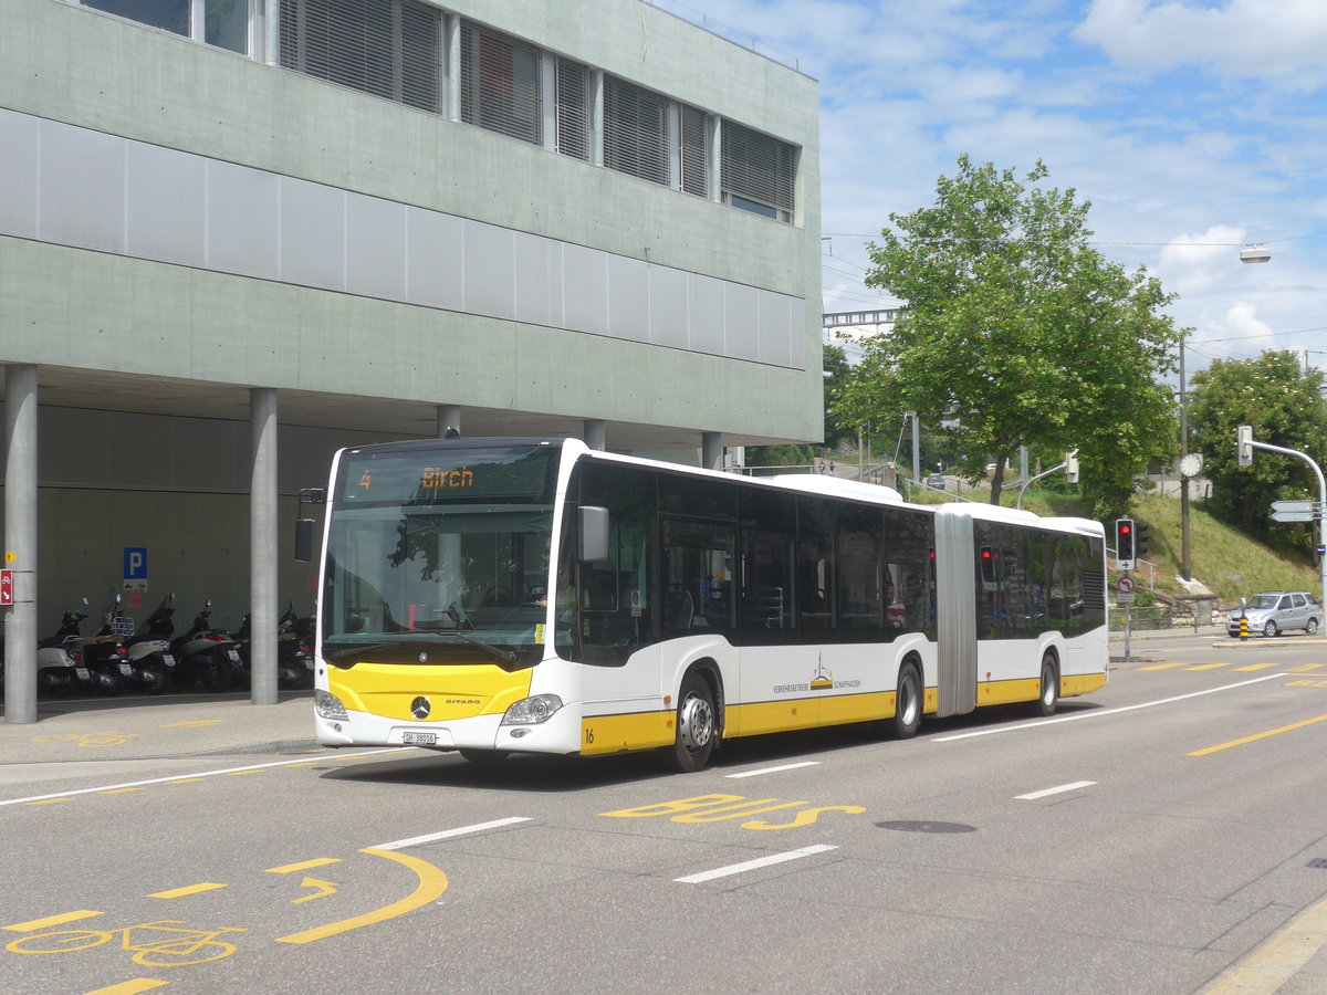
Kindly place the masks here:
<instances>
[{"instance_id":1,"label":"round grey concrete pillar between parked scooters and the bus front","mask_svg":"<svg viewBox=\"0 0 1327 995\"><path fill-rule=\"evenodd\" d=\"M253 467L249 488L249 700L276 704L276 389L249 390Z\"/></svg>"}]
</instances>

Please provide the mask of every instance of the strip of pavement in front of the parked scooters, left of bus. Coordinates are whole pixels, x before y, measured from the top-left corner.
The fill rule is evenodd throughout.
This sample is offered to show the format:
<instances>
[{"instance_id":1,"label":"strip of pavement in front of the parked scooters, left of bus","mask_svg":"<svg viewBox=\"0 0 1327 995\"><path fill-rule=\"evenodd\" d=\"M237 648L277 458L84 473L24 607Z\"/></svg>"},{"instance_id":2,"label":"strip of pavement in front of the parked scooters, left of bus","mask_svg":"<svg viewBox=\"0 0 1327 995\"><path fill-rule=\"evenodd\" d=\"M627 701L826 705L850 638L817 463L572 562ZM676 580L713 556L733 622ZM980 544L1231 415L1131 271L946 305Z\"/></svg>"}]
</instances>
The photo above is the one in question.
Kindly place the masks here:
<instances>
[{"instance_id":1,"label":"strip of pavement in front of the parked scooters, left of bus","mask_svg":"<svg viewBox=\"0 0 1327 995\"><path fill-rule=\"evenodd\" d=\"M239 694L41 699L37 722L0 722L0 764L317 750L312 691L277 704Z\"/></svg>"}]
</instances>

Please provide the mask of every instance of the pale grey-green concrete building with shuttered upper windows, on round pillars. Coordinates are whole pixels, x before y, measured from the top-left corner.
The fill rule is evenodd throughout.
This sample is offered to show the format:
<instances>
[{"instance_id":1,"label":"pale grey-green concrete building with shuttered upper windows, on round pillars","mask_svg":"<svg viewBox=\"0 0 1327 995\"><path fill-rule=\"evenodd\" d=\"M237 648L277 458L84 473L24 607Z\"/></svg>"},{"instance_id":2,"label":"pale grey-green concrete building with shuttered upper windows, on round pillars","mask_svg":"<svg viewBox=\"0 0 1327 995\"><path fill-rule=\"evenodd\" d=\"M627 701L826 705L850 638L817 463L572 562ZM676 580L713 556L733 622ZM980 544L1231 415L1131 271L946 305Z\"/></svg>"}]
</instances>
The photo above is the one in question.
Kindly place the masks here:
<instances>
[{"instance_id":1,"label":"pale grey-green concrete building with shuttered upper windows, on round pillars","mask_svg":"<svg viewBox=\"0 0 1327 995\"><path fill-rule=\"evenodd\" d=\"M0 24L9 720L81 596L252 605L259 635L309 610L296 495L338 446L456 426L718 464L819 439L795 68L644 0L0 0Z\"/></svg>"}]
</instances>

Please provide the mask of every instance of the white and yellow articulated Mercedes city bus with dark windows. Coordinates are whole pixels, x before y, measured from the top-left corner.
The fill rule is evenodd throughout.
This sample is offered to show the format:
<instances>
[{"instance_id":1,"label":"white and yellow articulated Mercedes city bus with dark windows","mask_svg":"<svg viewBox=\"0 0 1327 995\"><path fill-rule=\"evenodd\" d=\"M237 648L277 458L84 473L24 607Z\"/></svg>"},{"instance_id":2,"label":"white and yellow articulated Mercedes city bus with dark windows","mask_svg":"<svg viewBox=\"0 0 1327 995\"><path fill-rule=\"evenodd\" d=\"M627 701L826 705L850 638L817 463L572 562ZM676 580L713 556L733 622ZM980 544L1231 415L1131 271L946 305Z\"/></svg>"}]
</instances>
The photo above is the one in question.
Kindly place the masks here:
<instances>
[{"instance_id":1,"label":"white and yellow articulated Mercedes city bus with dark windows","mask_svg":"<svg viewBox=\"0 0 1327 995\"><path fill-rule=\"evenodd\" d=\"M361 446L332 467L325 746L660 750L695 771L738 736L1050 715L1105 679L1093 521L572 439Z\"/></svg>"}]
</instances>

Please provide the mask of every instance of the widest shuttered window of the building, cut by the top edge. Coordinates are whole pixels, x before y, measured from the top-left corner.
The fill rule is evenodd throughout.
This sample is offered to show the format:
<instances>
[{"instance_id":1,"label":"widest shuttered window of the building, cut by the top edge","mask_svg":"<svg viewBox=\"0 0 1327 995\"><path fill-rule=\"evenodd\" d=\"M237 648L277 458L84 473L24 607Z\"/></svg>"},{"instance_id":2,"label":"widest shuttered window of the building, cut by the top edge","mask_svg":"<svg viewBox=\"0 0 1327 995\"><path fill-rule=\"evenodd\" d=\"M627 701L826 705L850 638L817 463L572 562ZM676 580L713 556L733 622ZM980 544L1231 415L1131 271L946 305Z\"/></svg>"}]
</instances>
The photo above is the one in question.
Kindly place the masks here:
<instances>
[{"instance_id":1,"label":"widest shuttered window of the building, cut by the top edge","mask_svg":"<svg viewBox=\"0 0 1327 995\"><path fill-rule=\"evenodd\" d=\"M417 0L285 0L281 66L438 113L441 32Z\"/></svg>"}]
</instances>

